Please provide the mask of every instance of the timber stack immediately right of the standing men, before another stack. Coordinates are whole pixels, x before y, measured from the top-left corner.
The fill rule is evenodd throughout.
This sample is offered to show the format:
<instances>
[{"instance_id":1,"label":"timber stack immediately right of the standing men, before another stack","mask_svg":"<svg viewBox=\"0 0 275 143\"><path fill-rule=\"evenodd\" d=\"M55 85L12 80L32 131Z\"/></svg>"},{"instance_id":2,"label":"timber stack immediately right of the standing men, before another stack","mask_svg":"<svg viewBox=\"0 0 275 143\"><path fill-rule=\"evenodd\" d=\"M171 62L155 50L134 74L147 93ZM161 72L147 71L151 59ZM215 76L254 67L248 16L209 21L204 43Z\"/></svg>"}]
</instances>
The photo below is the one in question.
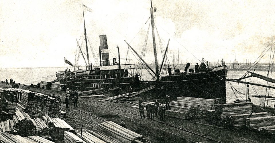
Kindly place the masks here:
<instances>
[{"instance_id":1,"label":"timber stack immediately right of the standing men, before another stack","mask_svg":"<svg viewBox=\"0 0 275 143\"><path fill-rule=\"evenodd\" d=\"M144 106L147 104L153 104L154 102L143 102ZM163 104L161 104L163 105ZM164 105L165 106L165 105ZM138 108L138 106L132 106L133 108ZM200 105L197 106L184 106L179 102L170 102L170 110L166 109L165 115L181 118L181 119L197 119L197 118L204 118L205 111L200 109ZM144 108L145 109L145 108Z\"/></svg>"}]
</instances>

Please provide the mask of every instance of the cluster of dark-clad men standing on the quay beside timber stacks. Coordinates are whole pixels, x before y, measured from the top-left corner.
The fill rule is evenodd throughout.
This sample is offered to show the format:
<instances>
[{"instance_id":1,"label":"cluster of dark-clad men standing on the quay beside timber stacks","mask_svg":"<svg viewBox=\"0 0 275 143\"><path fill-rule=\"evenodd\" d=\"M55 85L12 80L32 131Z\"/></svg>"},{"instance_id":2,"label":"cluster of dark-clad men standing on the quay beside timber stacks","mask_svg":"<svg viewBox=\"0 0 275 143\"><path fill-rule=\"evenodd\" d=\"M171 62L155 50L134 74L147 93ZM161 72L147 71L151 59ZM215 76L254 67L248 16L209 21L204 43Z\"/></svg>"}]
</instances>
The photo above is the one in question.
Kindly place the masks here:
<instances>
[{"instance_id":1,"label":"cluster of dark-clad men standing on the quay beside timber stacks","mask_svg":"<svg viewBox=\"0 0 275 143\"><path fill-rule=\"evenodd\" d=\"M146 109L146 112L147 112L147 118L148 119L152 119L154 120L155 119L155 116L160 116L160 119L159 120L163 120L163 118L165 117L165 111L166 109L170 110L170 97L166 95L166 105L164 104L160 104L158 102L158 100L156 100L155 103L152 103L152 104L147 104L145 109ZM138 106L139 108L139 111L140 111L140 118L145 118L144 116L144 106L142 103L140 103L140 105Z\"/></svg>"}]
</instances>

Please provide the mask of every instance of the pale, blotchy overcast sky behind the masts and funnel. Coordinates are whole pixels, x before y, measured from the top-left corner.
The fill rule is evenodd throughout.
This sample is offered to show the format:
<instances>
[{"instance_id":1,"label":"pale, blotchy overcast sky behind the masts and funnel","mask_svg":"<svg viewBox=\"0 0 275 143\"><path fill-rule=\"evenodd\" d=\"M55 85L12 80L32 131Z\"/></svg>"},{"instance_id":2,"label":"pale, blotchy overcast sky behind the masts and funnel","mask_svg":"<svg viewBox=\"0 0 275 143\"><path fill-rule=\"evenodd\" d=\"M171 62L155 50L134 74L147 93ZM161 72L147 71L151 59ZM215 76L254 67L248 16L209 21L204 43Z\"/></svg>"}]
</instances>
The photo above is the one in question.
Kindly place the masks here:
<instances>
[{"instance_id":1,"label":"pale, blotchy overcast sky behind the masts and funnel","mask_svg":"<svg viewBox=\"0 0 275 143\"><path fill-rule=\"evenodd\" d=\"M100 46L99 35L106 34L112 51L110 59L117 57L117 45L121 58L126 58L128 46L124 40L141 53L150 23L150 20L146 23L150 17L149 0L2 0L0 67L57 67L64 65L64 57L74 63L76 38L79 40L84 33L82 3L92 9L85 10L84 16L95 52ZM160 47L165 48L169 38L170 62L174 54L183 63L202 58L216 62L223 58L229 63L235 57L240 62L255 61L274 36L275 1L152 0L152 3L157 8L154 17L160 35L160 38L156 35L159 62ZM151 63L154 59L151 29L147 49L144 59ZM134 55L129 56L135 59ZM268 60L267 54L263 61ZM84 63L82 57L79 63Z\"/></svg>"}]
</instances>

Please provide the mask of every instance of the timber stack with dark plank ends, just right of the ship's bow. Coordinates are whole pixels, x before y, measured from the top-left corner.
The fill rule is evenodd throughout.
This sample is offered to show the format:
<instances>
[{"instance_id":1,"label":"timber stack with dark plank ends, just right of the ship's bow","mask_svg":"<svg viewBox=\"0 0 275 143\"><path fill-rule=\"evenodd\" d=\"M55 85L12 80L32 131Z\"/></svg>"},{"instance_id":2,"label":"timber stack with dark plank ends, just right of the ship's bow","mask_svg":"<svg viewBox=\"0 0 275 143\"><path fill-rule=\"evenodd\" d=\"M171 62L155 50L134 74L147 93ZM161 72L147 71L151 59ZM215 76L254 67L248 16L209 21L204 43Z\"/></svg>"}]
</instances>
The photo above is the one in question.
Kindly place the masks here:
<instances>
[{"instance_id":1,"label":"timber stack with dark plank ends, just right of the ship's bow","mask_svg":"<svg viewBox=\"0 0 275 143\"><path fill-rule=\"evenodd\" d=\"M226 116L240 115L240 114L251 114L252 103L231 103L231 104L217 104L215 111L208 110L207 121L211 124L226 127L228 121Z\"/></svg>"}]
</instances>

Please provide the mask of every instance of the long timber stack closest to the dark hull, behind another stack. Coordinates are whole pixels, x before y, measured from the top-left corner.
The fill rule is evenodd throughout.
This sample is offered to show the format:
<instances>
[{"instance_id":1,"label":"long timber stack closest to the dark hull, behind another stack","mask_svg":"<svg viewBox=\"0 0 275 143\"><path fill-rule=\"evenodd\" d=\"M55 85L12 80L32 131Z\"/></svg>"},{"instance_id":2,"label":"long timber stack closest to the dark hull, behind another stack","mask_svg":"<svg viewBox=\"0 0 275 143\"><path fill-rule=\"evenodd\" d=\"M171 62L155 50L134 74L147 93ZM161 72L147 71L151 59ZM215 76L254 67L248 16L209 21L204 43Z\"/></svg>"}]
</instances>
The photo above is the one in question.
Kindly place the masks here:
<instances>
[{"instance_id":1,"label":"long timber stack closest to the dark hull, behind another stack","mask_svg":"<svg viewBox=\"0 0 275 143\"><path fill-rule=\"evenodd\" d=\"M192 98L192 97L178 97L177 102L181 102L185 106L191 106L191 107L200 105L201 110L214 110L215 105L219 104L219 100Z\"/></svg>"}]
</instances>

